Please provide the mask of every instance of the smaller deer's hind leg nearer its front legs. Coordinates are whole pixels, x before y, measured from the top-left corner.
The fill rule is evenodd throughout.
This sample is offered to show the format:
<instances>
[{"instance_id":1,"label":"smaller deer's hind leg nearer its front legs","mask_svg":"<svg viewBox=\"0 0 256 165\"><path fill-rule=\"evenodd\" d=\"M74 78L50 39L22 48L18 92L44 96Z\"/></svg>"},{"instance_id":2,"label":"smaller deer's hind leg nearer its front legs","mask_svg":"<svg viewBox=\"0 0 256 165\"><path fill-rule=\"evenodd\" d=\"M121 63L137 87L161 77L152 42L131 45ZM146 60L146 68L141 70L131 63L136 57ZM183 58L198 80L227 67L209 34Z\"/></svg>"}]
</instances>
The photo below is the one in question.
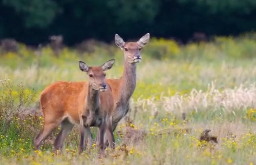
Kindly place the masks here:
<instances>
[{"instance_id":1,"label":"smaller deer's hind leg nearer its front legs","mask_svg":"<svg viewBox=\"0 0 256 165\"><path fill-rule=\"evenodd\" d=\"M71 132L73 127L74 125L68 120L68 118L64 119L61 122L61 130L58 133L54 142L55 150L61 149L63 147L63 142L68 134Z\"/></svg>"}]
</instances>

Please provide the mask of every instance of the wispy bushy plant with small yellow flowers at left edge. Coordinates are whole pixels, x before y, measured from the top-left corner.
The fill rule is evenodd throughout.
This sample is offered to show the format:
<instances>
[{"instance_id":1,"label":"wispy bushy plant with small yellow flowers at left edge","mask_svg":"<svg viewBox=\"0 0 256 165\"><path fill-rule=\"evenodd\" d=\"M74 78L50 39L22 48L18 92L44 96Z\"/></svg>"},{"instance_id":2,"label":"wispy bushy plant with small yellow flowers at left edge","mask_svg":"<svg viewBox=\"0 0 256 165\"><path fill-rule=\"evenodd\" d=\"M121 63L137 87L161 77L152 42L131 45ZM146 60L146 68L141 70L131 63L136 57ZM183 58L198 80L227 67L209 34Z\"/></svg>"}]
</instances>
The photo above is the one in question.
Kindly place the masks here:
<instances>
[{"instance_id":1,"label":"wispy bushy plant with small yellow flowers at left edge","mask_svg":"<svg viewBox=\"0 0 256 165\"><path fill-rule=\"evenodd\" d=\"M10 154L14 150L25 151L31 147L31 124L36 125L28 107L34 102L34 90L27 90L19 84L16 88L10 80L0 81L0 150ZM13 144L18 142L20 144Z\"/></svg>"}]
</instances>

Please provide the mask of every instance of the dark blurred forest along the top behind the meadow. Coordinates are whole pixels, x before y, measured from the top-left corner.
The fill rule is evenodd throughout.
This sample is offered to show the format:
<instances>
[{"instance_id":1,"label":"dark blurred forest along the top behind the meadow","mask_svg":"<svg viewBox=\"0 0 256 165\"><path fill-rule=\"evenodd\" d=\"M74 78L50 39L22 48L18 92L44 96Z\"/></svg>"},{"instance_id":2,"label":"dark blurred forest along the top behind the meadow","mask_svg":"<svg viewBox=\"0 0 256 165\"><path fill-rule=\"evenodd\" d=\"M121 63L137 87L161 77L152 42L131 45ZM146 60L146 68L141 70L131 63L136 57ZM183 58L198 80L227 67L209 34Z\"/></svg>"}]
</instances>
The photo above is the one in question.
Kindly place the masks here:
<instances>
[{"instance_id":1,"label":"dark blurred forest along the top behind the meadow","mask_svg":"<svg viewBox=\"0 0 256 165\"><path fill-rule=\"evenodd\" d=\"M63 35L66 45L149 32L187 42L256 28L255 0L0 0L0 38L29 45Z\"/></svg>"}]
</instances>

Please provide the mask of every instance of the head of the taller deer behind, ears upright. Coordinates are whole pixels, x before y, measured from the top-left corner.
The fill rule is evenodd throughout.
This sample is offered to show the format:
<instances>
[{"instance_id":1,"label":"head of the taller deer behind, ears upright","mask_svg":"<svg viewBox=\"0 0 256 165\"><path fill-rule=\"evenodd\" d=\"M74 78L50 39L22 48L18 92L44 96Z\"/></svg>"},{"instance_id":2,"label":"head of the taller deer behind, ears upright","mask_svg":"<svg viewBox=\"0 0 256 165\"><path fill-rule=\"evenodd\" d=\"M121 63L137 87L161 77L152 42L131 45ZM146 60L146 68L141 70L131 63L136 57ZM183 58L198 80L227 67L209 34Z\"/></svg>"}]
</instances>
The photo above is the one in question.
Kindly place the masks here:
<instances>
[{"instance_id":1,"label":"head of the taller deer behind, ears upright","mask_svg":"<svg viewBox=\"0 0 256 165\"><path fill-rule=\"evenodd\" d=\"M115 43L124 52L124 59L129 63L137 63L142 60L140 51L149 41L149 33L141 37L137 42L125 43L123 39L116 34Z\"/></svg>"}]
</instances>

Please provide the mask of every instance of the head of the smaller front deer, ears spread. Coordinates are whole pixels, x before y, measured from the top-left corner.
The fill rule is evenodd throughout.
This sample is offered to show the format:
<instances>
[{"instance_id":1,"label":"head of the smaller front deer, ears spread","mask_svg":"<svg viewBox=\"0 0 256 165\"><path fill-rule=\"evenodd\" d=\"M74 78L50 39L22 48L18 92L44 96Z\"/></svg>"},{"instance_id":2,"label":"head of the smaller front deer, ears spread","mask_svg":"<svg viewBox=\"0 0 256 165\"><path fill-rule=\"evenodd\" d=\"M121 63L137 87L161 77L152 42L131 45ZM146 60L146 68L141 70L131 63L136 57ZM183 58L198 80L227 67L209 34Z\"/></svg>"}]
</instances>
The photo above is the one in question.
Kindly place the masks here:
<instances>
[{"instance_id":1,"label":"head of the smaller front deer, ears spread","mask_svg":"<svg viewBox=\"0 0 256 165\"><path fill-rule=\"evenodd\" d=\"M106 73L104 71L109 70L115 62L115 59L111 59L101 66L88 66L83 61L79 61L79 68L81 71L86 72L89 75L89 84L94 90L106 91Z\"/></svg>"}]
</instances>

